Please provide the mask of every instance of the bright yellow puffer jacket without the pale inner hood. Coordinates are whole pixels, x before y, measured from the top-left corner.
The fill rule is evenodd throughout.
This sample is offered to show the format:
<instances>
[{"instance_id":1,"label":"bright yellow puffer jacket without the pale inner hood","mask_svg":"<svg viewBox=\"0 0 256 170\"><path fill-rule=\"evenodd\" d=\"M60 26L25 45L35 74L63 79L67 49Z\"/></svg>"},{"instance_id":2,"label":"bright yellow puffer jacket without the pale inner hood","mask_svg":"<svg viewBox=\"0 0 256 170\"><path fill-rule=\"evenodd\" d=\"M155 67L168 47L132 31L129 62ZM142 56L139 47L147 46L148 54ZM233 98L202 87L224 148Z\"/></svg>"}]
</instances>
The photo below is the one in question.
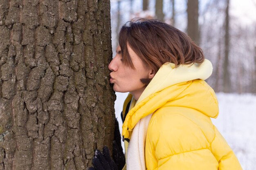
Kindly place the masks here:
<instances>
[{"instance_id":1,"label":"bright yellow puffer jacket without the pale inner hood","mask_svg":"<svg viewBox=\"0 0 256 170\"><path fill-rule=\"evenodd\" d=\"M130 110L123 125L124 138L130 139L139 119L153 113L146 132L147 170L242 170L211 122L210 117L218 116L218 101L204 80L181 80L150 93Z\"/></svg>"}]
</instances>

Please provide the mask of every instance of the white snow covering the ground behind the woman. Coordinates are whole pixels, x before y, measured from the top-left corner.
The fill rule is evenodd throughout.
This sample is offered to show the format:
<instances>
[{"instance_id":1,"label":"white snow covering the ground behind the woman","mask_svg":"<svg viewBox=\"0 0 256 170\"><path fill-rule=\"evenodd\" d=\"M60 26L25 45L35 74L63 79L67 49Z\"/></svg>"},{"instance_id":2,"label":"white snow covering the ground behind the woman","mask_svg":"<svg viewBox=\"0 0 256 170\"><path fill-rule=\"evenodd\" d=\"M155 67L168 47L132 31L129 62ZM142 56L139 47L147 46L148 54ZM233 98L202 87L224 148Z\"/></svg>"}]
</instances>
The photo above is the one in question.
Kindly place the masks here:
<instances>
[{"instance_id":1,"label":"white snow covering the ground behind the woman","mask_svg":"<svg viewBox=\"0 0 256 170\"><path fill-rule=\"evenodd\" d=\"M128 93L116 93L116 117L121 132L120 113ZM256 95L217 93L220 114L212 119L229 146L234 150L243 170L256 165ZM124 146L123 146L124 148Z\"/></svg>"}]
</instances>

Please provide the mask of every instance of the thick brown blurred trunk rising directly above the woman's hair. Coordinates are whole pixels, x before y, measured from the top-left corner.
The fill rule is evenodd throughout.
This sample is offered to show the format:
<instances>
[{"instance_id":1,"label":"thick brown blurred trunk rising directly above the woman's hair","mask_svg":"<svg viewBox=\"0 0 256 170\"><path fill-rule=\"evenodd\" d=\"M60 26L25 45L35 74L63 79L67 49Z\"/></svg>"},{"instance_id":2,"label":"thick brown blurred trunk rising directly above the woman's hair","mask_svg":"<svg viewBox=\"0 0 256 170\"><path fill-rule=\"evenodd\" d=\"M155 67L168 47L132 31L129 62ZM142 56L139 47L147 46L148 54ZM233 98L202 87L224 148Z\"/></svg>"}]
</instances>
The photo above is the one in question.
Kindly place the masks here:
<instances>
[{"instance_id":1,"label":"thick brown blurred trunk rising directly above the woman's hair","mask_svg":"<svg viewBox=\"0 0 256 170\"><path fill-rule=\"evenodd\" d=\"M199 44L199 29L198 29L198 0L187 1L188 28L187 32L191 39Z\"/></svg>"}]
</instances>

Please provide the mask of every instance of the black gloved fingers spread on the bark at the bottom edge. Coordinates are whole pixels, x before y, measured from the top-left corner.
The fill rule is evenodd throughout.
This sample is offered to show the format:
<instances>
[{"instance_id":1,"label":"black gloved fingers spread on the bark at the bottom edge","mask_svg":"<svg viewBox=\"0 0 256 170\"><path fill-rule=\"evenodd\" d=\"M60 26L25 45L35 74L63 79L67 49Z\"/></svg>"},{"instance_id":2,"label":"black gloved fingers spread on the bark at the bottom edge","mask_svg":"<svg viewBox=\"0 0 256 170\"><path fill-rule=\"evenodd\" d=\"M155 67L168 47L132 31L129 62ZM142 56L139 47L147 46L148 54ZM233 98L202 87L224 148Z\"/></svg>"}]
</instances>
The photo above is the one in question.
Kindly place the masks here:
<instances>
[{"instance_id":1,"label":"black gloved fingers spread on the bark at the bottom edge","mask_svg":"<svg viewBox=\"0 0 256 170\"><path fill-rule=\"evenodd\" d=\"M94 167L89 168L89 170L118 170L117 165L110 157L107 146L103 147L102 153L99 150L95 151L92 164Z\"/></svg>"}]
</instances>

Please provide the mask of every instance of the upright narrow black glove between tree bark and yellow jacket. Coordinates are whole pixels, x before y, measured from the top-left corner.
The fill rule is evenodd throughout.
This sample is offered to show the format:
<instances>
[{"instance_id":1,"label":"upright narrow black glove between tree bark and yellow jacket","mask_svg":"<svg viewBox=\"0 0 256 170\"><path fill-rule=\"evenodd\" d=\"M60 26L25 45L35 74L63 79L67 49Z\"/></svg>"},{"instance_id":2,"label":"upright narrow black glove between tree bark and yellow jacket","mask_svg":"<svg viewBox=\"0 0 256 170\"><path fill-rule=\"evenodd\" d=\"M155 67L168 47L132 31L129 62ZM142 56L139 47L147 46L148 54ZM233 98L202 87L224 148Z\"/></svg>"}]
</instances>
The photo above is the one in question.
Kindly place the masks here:
<instances>
[{"instance_id":1,"label":"upright narrow black glove between tree bark and yellow jacket","mask_svg":"<svg viewBox=\"0 0 256 170\"><path fill-rule=\"evenodd\" d=\"M115 119L115 132L113 141L113 159L117 164L118 170L122 170L125 165L125 156L121 146L121 135L117 118Z\"/></svg>"}]
</instances>

